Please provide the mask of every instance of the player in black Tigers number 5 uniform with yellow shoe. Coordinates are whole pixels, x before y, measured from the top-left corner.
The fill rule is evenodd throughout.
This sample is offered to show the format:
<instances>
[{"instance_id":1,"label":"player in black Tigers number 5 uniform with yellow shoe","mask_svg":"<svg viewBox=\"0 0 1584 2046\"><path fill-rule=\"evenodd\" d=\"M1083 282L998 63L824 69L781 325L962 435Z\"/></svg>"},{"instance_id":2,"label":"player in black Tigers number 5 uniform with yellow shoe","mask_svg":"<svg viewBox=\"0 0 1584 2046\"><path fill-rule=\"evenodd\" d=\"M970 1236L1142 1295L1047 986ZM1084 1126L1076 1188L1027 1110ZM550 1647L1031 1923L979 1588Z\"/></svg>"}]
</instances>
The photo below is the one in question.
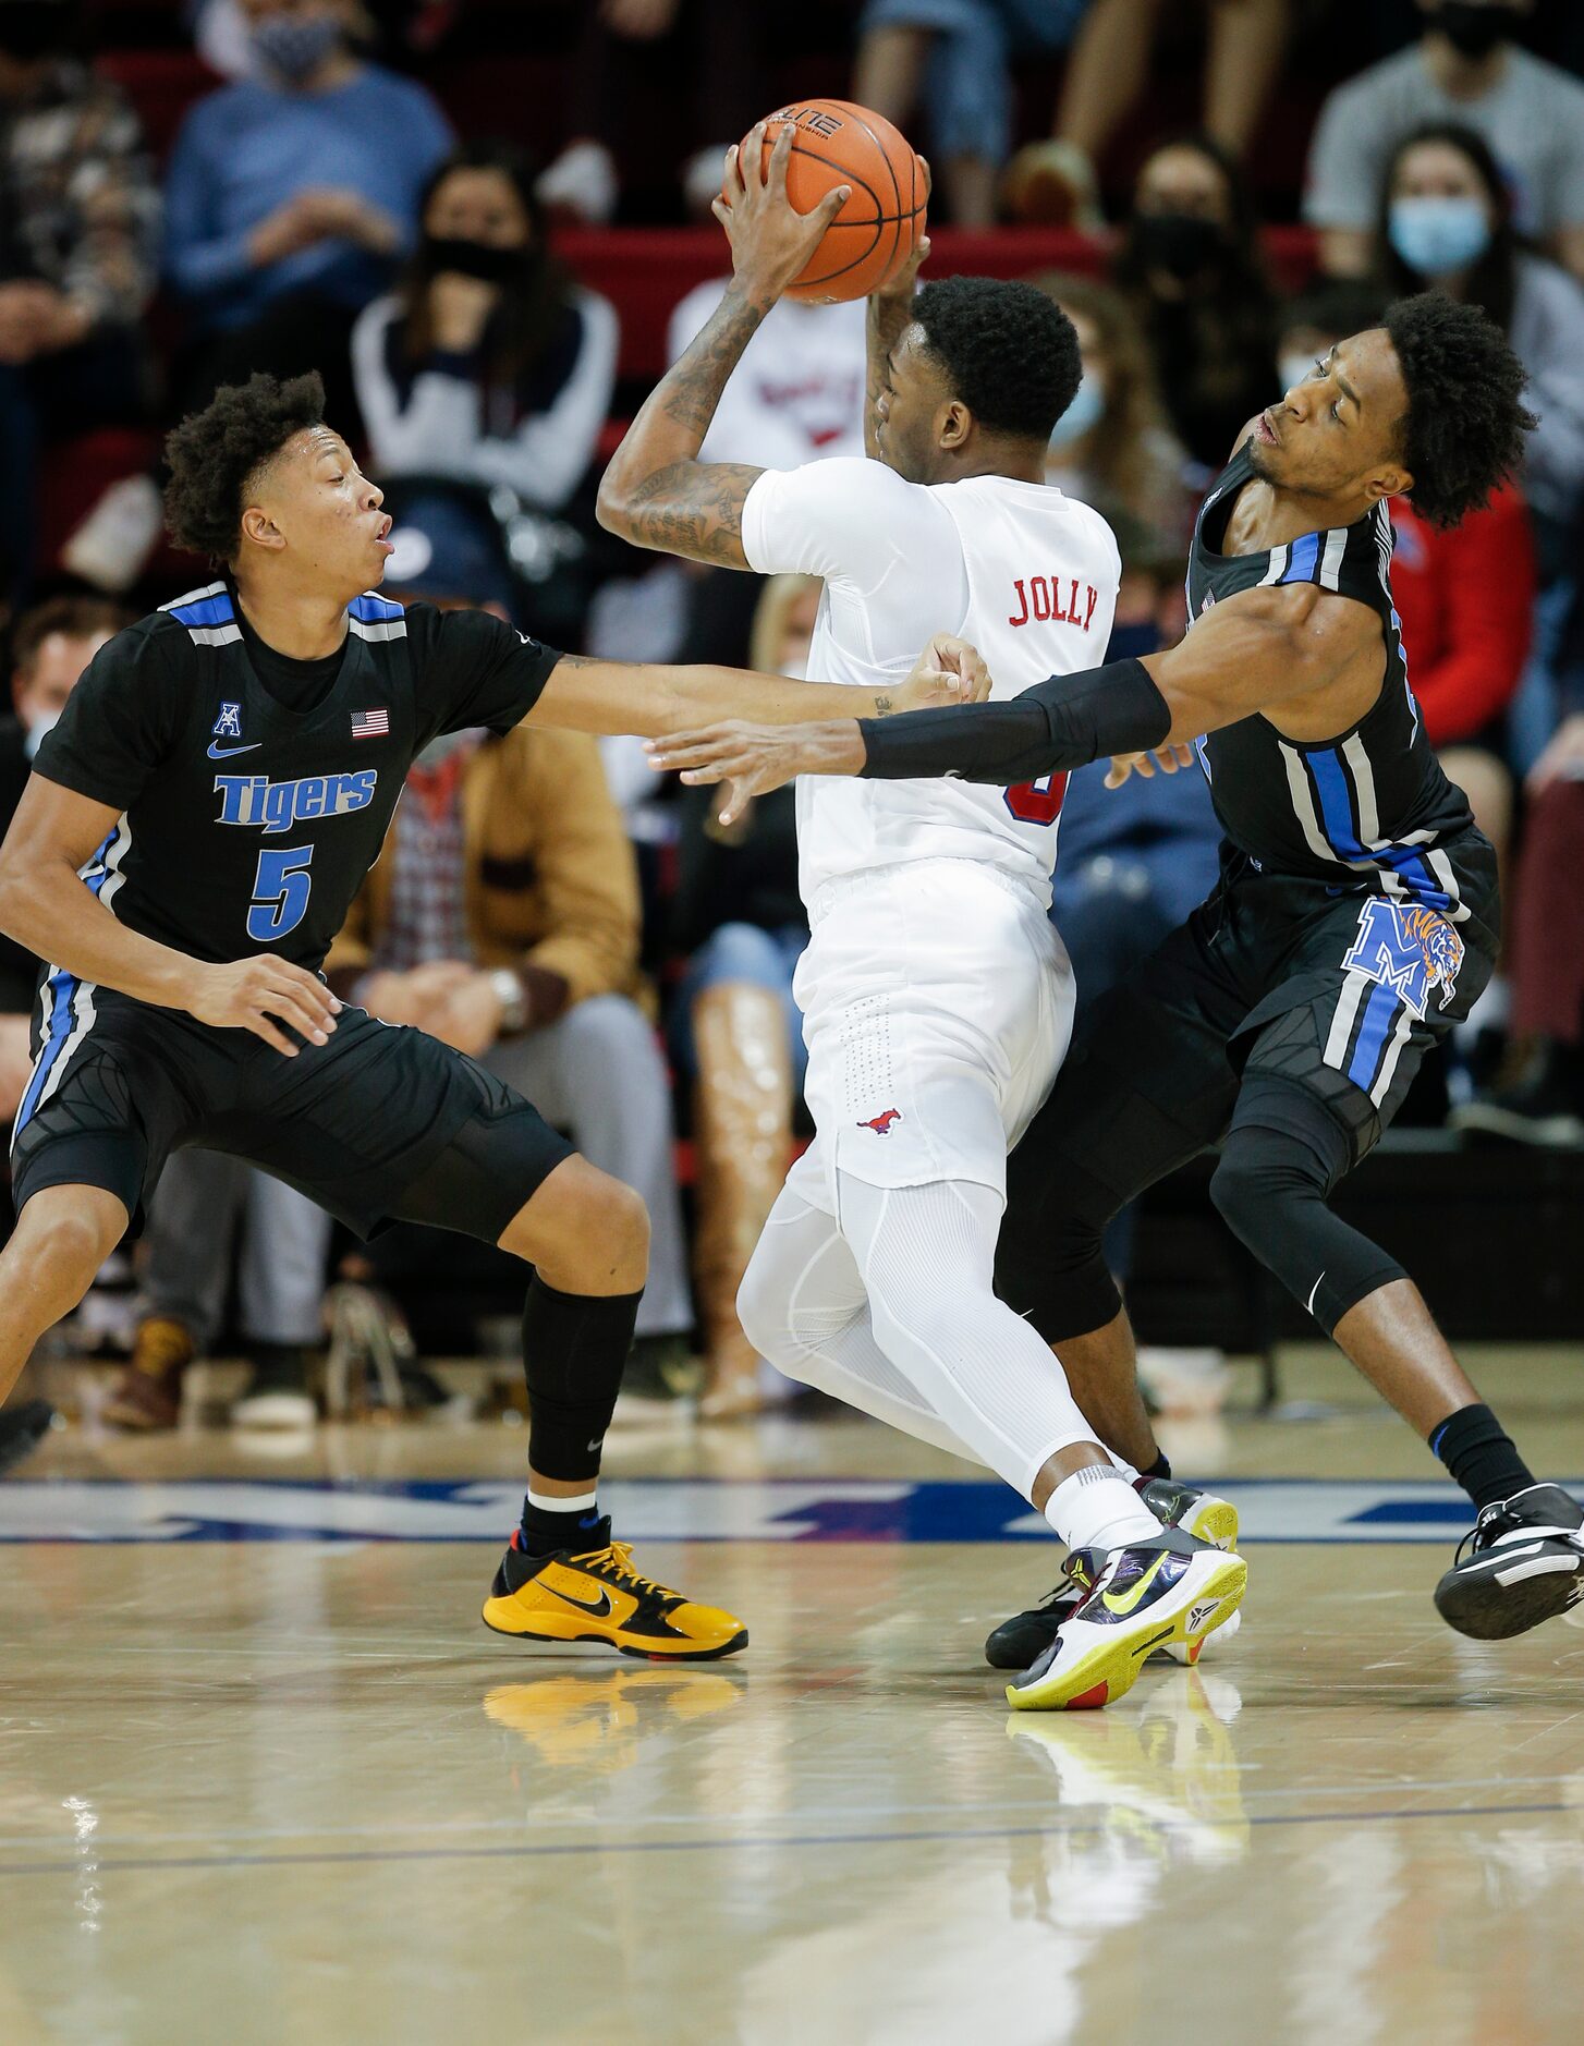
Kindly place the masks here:
<instances>
[{"instance_id":1,"label":"player in black Tigers number 5 uniform with yellow shoe","mask_svg":"<svg viewBox=\"0 0 1584 2046\"><path fill-rule=\"evenodd\" d=\"M176 1148L246 1158L362 1236L387 1217L477 1236L534 1266L530 1492L485 1620L731 1655L741 1622L641 1577L596 1504L645 1283L641 1199L483 1066L338 1003L319 962L438 735L657 732L684 710L782 718L849 692L581 661L483 612L372 595L391 520L321 407L317 376L254 376L170 436L172 534L225 573L94 657L0 849L0 929L57 962L12 1138L0 1397ZM900 696L960 687L921 663ZM508 980L499 1000L522 992Z\"/></svg>"}]
</instances>

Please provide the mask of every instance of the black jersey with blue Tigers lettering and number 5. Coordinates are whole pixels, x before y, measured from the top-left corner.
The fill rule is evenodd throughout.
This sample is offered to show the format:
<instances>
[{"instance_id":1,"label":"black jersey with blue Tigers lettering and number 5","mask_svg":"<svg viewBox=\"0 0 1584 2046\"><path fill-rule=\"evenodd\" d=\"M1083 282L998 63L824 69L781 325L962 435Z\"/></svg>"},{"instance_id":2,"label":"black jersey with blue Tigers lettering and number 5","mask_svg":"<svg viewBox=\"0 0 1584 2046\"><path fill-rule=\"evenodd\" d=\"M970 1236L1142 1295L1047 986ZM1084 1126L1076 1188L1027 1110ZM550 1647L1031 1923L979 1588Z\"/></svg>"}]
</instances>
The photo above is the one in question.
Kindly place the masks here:
<instances>
[{"instance_id":1,"label":"black jersey with blue Tigers lettering and number 5","mask_svg":"<svg viewBox=\"0 0 1584 2046\"><path fill-rule=\"evenodd\" d=\"M82 878L129 929L199 960L317 968L417 753L448 730L510 730L557 659L485 612L368 593L329 687L291 710L248 657L233 591L211 583L94 655L35 771L121 812Z\"/></svg>"}]
</instances>

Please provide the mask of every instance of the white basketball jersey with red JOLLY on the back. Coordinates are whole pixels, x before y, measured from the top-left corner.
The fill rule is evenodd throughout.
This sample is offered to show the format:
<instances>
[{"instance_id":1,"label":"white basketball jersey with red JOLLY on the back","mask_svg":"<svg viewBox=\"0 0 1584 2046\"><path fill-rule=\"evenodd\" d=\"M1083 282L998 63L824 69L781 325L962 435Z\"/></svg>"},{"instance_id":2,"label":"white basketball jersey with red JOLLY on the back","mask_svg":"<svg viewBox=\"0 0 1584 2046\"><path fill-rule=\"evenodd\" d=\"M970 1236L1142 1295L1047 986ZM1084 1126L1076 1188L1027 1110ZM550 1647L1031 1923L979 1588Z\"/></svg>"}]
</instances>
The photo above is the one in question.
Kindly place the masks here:
<instances>
[{"instance_id":1,"label":"white basketball jersey with red JOLLY on the back","mask_svg":"<svg viewBox=\"0 0 1584 2046\"><path fill-rule=\"evenodd\" d=\"M1111 528L1044 483L970 477L907 483L874 460L767 471L743 507L761 571L825 577L812 681L882 690L933 632L984 655L995 696L1097 667L1121 575ZM1050 902L1064 777L1023 788L970 782L798 782L804 902L837 878L915 859L976 859Z\"/></svg>"}]
</instances>

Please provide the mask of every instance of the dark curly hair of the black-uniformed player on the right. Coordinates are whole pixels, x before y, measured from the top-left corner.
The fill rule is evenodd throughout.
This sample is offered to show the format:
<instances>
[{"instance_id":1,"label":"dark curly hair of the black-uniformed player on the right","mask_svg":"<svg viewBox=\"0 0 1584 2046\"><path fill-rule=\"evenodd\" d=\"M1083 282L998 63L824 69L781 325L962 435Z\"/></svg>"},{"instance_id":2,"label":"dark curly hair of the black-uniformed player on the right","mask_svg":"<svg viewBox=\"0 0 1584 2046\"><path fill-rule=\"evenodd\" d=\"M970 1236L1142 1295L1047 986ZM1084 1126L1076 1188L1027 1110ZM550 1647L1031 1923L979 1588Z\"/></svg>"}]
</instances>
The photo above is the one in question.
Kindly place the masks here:
<instances>
[{"instance_id":1,"label":"dark curly hair of the black-uniformed player on the right","mask_svg":"<svg viewBox=\"0 0 1584 2046\"><path fill-rule=\"evenodd\" d=\"M1441 291L1398 299L1381 323L1408 387L1408 499L1431 526L1457 526L1523 464L1539 426L1523 403L1525 366L1488 313Z\"/></svg>"}]
</instances>

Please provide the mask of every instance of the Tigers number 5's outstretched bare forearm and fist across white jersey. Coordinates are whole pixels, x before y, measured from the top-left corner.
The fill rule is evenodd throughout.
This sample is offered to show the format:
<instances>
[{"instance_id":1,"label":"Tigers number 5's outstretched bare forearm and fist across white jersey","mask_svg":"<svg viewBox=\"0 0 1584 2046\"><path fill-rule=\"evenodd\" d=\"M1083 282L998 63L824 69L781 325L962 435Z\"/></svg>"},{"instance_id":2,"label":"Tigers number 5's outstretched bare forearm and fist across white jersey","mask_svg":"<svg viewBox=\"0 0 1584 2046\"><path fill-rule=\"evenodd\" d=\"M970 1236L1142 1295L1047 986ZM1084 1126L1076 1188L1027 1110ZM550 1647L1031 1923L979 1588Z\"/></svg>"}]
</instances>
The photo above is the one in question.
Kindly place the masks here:
<instances>
[{"instance_id":1,"label":"Tigers number 5's outstretched bare forearm and fist across white jersey","mask_svg":"<svg viewBox=\"0 0 1584 2046\"><path fill-rule=\"evenodd\" d=\"M684 726L727 718L782 726L839 714L851 722L857 712L878 720L931 706L980 704L988 694L991 671L978 649L948 632L929 640L913 673L890 690L794 681L790 675L759 675L741 667L649 667L563 655L528 712L528 722L557 724L571 732L663 739Z\"/></svg>"}]
</instances>

